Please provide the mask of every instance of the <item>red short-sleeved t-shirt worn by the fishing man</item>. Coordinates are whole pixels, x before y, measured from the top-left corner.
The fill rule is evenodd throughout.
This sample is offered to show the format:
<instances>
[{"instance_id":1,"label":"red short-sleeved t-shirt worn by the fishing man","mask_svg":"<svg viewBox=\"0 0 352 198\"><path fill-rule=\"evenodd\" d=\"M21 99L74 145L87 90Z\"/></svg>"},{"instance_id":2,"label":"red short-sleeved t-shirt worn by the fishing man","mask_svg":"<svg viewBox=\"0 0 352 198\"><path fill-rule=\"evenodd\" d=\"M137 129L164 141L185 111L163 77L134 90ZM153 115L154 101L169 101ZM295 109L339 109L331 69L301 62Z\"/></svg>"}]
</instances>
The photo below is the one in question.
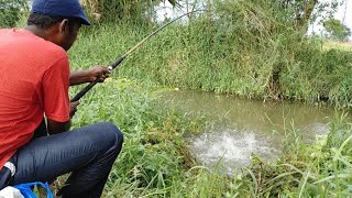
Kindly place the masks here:
<instances>
[{"instance_id":1,"label":"red short-sleeved t-shirt worn by the fishing man","mask_svg":"<svg viewBox=\"0 0 352 198\"><path fill-rule=\"evenodd\" d=\"M25 30L0 30L0 169L43 116L69 120L69 64L58 45Z\"/></svg>"}]
</instances>

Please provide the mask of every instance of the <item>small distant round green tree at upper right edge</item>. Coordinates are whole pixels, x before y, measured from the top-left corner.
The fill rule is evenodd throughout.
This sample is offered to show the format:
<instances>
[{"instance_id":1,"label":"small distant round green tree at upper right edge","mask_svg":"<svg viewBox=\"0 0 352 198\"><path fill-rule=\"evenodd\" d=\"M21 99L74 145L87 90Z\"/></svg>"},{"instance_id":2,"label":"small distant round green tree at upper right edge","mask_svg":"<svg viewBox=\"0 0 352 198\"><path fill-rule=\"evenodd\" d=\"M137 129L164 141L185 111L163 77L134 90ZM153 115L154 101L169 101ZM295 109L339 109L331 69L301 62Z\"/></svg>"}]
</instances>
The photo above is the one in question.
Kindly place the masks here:
<instances>
[{"instance_id":1,"label":"small distant round green tree at upper right edge","mask_svg":"<svg viewBox=\"0 0 352 198\"><path fill-rule=\"evenodd\" d=\"M324 36L327 38L343 42L351 36L351 30L339 20L328 19L322 23L322 26L326 30Z\"/></svg>"}]
</instances>

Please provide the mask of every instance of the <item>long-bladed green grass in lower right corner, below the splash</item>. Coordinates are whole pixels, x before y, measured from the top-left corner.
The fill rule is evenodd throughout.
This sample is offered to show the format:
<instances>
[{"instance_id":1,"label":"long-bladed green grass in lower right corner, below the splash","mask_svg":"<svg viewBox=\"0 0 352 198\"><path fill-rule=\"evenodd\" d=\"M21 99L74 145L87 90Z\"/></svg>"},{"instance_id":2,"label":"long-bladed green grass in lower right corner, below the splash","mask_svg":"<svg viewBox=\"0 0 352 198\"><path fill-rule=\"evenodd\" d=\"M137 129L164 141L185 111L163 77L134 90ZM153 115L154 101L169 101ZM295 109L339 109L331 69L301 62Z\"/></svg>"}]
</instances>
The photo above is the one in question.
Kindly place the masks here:
<instances>
[{"instance_id":1,"label":"long-bladed green grass in lower right corner, below the splash","mask_svg":"<svg viewBox=\"0 0 352 198\"><path fill-rule=\"evenodd\" d=\"M252 165L239 169L232 178L200 167L195 178L187 180L185 195L349 197L352 193L352 128L343 116L331 124L329 136L319 138L310 145L301 141L302 131L286 129L285 153L278 161L264 163L253 155Z\"/></svg>"}]
</instances>

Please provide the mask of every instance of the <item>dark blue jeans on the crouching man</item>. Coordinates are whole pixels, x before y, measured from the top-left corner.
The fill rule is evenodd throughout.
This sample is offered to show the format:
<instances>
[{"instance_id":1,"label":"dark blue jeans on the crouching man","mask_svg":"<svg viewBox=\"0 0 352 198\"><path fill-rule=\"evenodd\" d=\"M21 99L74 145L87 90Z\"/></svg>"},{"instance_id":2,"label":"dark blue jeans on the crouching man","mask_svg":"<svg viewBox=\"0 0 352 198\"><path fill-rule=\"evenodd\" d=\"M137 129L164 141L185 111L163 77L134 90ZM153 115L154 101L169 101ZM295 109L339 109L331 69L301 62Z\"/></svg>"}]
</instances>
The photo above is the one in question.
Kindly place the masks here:
<instances>
[{"instance_id":1,"label":"dark blue jeans on the crouching man","mask_svg":"<svg viewBox=\"0 0 352 198\"><path fill-rule=\"evenodd\" d=\"M72 172L58 196L100 197L122 143L119 129L105 122L35 138L16 152L16 174L11 185L53 182Z\"/></svg>"}]
</instances>

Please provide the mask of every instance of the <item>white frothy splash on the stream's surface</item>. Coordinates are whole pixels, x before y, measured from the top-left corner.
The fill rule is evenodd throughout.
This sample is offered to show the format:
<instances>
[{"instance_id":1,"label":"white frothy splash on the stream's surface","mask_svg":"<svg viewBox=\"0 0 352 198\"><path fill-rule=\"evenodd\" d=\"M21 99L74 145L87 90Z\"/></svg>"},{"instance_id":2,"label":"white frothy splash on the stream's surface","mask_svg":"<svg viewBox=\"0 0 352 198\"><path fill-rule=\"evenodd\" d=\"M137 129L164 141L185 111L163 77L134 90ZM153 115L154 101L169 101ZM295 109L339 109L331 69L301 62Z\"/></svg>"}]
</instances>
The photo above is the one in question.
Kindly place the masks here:
<instances>
[{"instance_id":1,"label":"white frothy splash on the stream's surface","mask_svg":"<svg viewBox=\"0 0 352 198\"><path fill-rule=\"evenodd\" d=\"M273 140L248 130L226 129L202 133L190 140L190 150L199 163L232 175L237 167L249 166L255 153L266 161L277 158L280 148Z\"/></svg>"}]
</instances>

